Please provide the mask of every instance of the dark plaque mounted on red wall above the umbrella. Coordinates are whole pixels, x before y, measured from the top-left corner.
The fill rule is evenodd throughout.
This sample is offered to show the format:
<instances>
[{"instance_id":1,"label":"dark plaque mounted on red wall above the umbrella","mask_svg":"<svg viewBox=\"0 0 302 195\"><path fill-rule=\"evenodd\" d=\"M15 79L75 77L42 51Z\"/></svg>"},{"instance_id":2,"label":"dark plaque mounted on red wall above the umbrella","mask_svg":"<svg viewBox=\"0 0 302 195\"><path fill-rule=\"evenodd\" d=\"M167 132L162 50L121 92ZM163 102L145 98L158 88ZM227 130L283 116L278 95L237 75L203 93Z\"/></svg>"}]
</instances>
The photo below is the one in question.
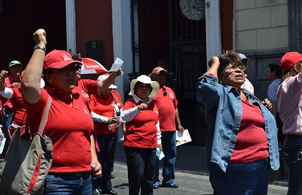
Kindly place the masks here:
<instances>
[{"instance_id":1,"label":"dark plaque mounted on red wall above the umbrella","mask_svg":"<svg viewBox=\"0 0 302 195\"><path fill-rule=\"evenodd\" d=\"M97 60L104 64L104 39L86 42L86 57Z\"/></svg>"}]
</instances>

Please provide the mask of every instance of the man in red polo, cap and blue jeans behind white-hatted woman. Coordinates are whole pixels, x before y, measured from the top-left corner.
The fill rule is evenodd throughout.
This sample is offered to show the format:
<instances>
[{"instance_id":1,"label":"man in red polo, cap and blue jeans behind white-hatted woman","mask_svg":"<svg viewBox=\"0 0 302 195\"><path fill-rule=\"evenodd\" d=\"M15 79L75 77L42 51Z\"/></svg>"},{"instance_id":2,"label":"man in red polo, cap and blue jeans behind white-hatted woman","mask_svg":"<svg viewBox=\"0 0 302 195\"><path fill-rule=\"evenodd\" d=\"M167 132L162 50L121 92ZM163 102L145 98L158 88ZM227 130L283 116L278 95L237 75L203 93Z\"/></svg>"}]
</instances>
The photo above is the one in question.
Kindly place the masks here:
<instances>
[{"instance_id":1,"label":"man in red polo, cap and blue jeans behind white-hatted woman","mask_svg":"<svg viewBox=\"0 0 302 195\"><path fill-rule=\"evenodd\" d=\"M158 95L153 98L159 108L160 129L162 132L162 145L165 153L163 167L162 187L177 188L175 183L175 160L176 160L176 130L183 132L184 128L179 119L177 100L174 91L165 86L167 70L158 66L150 74L152 80L160 83ZM176 124L175 124L176 123ZM155 162L155 177L153 188L159 188L159 159Z\"/></svg>"}]
</instances>

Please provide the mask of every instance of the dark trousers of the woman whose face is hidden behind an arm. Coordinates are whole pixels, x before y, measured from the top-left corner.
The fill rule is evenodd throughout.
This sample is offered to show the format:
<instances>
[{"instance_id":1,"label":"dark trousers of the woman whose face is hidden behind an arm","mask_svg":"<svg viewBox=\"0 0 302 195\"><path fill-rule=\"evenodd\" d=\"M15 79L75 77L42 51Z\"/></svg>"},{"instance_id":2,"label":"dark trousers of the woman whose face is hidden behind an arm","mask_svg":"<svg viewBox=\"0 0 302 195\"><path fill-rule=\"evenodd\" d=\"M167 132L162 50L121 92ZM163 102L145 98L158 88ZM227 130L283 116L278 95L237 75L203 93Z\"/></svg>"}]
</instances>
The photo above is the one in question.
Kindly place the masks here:
<instances>
[{"instance_id":1,"label":"dark trousers of the woman whose face is hidden behind an arm","mask_svg":"<svg viewBox=\"0 0 302 195\"><path fill-rule=\"evenodd\" d=\"M111 168L114 161L115 134L97 134L97 142L100 148L98 160L102 165L102 177L93 180L93 189L111 190Z\"/></svg>"}]
</instances>

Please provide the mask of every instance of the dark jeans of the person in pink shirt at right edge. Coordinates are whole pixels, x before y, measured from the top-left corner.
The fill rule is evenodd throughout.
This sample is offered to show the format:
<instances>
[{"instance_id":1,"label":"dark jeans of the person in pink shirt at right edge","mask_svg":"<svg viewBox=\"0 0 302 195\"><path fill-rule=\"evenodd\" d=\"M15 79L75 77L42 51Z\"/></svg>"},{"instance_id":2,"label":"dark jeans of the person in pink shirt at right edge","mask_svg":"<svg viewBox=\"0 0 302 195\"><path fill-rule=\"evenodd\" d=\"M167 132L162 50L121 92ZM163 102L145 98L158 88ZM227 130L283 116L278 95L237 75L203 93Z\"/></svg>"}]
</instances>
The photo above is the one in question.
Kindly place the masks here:
<instances>
[{"instance_id":1,"label":"dark jeans of the person in pink shirt at right edge","mask_svg":"<svg viewBox=\"0 0 302 195\"><path fill-rule=\"evenodd\" d=\"M287 195L302 194L302 136L286 135L281 155L288 166Z\"/></svg>"}]
</instances>

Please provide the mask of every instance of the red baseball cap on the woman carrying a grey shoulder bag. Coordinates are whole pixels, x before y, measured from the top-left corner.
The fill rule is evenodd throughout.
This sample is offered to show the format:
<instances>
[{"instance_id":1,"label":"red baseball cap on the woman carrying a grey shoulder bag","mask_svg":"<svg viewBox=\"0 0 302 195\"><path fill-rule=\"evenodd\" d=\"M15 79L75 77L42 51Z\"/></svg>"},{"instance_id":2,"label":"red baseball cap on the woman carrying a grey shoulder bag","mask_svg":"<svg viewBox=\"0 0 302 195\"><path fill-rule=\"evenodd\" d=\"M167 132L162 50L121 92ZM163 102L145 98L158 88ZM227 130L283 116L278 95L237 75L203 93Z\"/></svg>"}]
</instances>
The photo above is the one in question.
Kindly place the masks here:
<instances>
[{"instance_id":1,"label":"red baseball cap on the woman carrying a grey shoulder bag","mask_svg":"<svg viewBox=\"0 0 302 195\"><path fill-rule=\"evenodd\" d=\"M55 68L60 69L64 68L68 64L75 63L77 65L83 65L82 62L78 60L73 60L70 53L63 50L52 50L44 58L43 69Z\"/></svg>"}]
</instances>

